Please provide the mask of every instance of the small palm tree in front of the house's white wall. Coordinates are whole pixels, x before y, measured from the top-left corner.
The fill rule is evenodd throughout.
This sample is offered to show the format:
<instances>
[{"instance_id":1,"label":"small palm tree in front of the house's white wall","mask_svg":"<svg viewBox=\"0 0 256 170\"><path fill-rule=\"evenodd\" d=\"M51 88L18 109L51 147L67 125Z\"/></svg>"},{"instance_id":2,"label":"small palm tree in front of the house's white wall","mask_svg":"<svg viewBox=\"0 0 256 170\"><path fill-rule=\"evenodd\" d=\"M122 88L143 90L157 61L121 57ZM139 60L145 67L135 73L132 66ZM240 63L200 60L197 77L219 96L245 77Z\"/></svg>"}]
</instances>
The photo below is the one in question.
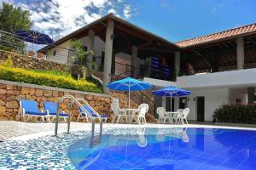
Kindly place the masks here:
<instances>
[{"instance_id":1,"label":"small palm tree in front of the house's white wall","mask_svg":"<svg viewBox=\"0 0 256 170\"><path fill-rule=\"evenodd\" d=\"M82 78L86 79L90 72L89 64L96 65L95 62L89 61L88 59L89 55L94 54L92 51L85 51L83 45L79 41L71 41L70 45L75 50L75 54L72 56L73 68L76 70L79 69L79 72L82 73Z\"/></svg>"}]
</instances>

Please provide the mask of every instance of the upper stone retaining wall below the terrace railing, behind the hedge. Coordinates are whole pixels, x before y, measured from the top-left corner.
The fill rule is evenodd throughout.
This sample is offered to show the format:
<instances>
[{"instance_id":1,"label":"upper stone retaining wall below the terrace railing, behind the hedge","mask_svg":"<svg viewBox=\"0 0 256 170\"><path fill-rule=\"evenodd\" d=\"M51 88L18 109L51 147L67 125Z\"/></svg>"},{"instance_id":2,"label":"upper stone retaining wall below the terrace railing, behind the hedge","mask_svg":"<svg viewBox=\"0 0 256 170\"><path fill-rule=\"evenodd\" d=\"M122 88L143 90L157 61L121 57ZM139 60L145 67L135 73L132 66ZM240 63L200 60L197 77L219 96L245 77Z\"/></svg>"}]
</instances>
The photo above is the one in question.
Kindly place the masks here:
<instances>
[{"instance_id":1,"label":"upper stone retaining wall below the terrace railing, behind the hedge","mask_svg":"<svg viewBox=\"0 0 256 170\"><path fill-rule=\"evenodd\" d=\"M16 54L3 50L0 50L0 62L8 59L8 55L11 55L13 65L18 68L42 71L68 71L68 66L65 64L60 64L45 59L36 59L31 56Z\"/></svg>"}]
</instances>

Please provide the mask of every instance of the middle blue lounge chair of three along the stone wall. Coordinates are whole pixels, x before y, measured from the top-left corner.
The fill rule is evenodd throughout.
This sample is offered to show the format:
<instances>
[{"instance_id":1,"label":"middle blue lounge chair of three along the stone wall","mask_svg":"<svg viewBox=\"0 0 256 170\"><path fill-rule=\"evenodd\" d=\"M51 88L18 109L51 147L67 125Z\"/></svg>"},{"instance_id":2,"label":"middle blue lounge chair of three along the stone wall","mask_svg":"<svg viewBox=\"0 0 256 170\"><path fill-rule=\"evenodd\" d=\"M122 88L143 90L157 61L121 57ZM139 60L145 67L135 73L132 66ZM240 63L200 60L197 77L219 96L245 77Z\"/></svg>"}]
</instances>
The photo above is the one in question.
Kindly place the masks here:
<instances>
[{"instance_id":1,"label":"middle blue lounge chair of three along the stone wall","mask_svg":"<svg viewBox=\"0 0 256 170\"><path fill-rule=\"evenodd\" d=\"M55 117L57 114L57 109L58 109L58 105L55 102L49 102L49 101L45 101L44 102L44 111L46 111L46 113L49 115L49 117ZM67 122L67 117L68 114L65 113L64 111L61 111L59 113L59 117L63 118L65 122ZM52 122L49 120L49 122Z\"/></svg>"}]
</instances>

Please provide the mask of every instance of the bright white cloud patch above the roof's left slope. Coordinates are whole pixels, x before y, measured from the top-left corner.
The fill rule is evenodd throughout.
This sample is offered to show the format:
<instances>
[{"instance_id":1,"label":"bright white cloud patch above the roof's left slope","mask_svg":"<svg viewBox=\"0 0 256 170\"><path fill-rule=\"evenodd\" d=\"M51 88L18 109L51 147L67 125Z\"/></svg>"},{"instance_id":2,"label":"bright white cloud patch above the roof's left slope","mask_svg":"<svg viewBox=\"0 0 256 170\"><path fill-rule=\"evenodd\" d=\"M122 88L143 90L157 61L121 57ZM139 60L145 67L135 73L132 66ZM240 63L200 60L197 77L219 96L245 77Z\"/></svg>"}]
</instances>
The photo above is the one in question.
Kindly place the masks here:
<instances>
[{"instance_id":1,"label":"bright white cloud patch above the roof's left slope","mask_svg":"<svg viewBox=\"0 0 256 170\"><path fill-rule=\"evenodd\" d=\"M9 3L30 10L32 29L49 33L55 39L66 36L108 13L125 19L132 16L131 5L124 4L124 0L27 0Z\"/></svg>"}]
</instances>

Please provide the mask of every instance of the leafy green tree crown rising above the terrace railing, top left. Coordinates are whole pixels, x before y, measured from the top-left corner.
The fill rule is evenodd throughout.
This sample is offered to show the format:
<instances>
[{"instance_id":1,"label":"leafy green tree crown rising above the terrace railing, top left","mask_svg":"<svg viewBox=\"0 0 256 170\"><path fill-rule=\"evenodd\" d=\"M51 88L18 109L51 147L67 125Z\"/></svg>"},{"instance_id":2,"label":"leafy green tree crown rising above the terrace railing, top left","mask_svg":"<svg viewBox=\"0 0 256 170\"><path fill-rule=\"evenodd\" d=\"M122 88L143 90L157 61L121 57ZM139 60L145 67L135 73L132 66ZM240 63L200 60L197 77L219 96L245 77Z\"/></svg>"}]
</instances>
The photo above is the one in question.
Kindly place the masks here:
<instances>
[{"instance_id":1,"label":"leafy green tree crown rising above the terrace railing, top left","mask_svg":"<svg viewBox=\"0 0 256 170\"><path fill-rule=\"evenodd\" d=\"M0 30L15 33L17 30L29 30L32 26L30 13L9 3L0 6Z\"/></svg>"}]
</instances>

